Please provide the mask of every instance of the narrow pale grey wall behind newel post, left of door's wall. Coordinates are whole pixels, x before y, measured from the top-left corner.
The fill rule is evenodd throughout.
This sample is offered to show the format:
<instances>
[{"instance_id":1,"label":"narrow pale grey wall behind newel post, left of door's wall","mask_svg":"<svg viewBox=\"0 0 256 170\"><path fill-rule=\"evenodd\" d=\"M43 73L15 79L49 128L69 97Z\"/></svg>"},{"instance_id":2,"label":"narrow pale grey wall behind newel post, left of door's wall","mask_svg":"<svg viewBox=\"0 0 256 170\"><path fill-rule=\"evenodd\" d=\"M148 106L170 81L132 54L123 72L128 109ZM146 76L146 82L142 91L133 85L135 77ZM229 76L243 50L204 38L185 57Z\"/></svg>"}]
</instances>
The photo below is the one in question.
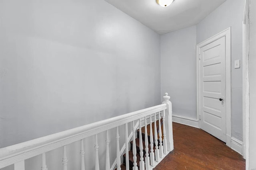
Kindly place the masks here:
<instances>
[{"instance_id":1,"label":"narrow pale grey wall behind newel post, left of door's wall","mask_svg":"<svg viewBox=\"0 0 256 170\"><path fill-rule=\"evenodd\" d=\"M197 118L196 26L161 35L161 94L168 92L174 115Z\"/></svg>"}]
</instances>

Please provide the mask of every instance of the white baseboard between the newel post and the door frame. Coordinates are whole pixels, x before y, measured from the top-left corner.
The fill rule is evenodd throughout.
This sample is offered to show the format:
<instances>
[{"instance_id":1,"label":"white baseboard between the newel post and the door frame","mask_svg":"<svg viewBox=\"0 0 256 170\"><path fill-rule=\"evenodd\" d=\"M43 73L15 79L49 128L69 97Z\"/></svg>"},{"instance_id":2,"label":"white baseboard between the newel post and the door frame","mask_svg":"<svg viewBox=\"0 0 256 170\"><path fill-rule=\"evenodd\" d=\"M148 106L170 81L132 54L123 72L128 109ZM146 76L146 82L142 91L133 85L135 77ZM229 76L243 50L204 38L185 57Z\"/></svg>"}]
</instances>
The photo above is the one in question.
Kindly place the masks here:
<instances>
[{"instance_id":1,"label":"white baseboard between the newel post and the door frame","mask_svg":"<svg viewBox=\"0 0 256 170\"><path fill-rule=\"evenodd\" d=\"M172 121L176 123L180 123L182 125L188 125L188 126L199 128L198 119L193 119L190 117L172 114Z\"/></svg>"}]
</instances>

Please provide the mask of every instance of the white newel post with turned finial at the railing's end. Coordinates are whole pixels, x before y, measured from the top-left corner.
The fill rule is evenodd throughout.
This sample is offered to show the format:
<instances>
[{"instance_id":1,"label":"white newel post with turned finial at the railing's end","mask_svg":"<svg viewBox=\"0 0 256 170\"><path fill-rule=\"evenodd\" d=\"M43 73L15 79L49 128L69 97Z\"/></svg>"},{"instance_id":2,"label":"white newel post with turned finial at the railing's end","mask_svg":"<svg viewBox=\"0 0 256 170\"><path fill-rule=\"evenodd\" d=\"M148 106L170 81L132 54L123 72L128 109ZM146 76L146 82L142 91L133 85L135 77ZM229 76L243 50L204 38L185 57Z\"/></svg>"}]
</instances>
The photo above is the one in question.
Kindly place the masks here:
<instances>
[{"instance_id":1,"label":"white newel post with turned finial at the railing's end","mask_svg":"<svg viewBox=\"0 0 256 170\"><path fill-rule=\"evenodd\" d=\"M166 104L166 139L167 139L167 149L172 151L174 149L173 146L173 134L172 134L172 102L170 102L170 96L168 93L164 95L164 101L162 104Z\"/></svg>"}]
</instances>

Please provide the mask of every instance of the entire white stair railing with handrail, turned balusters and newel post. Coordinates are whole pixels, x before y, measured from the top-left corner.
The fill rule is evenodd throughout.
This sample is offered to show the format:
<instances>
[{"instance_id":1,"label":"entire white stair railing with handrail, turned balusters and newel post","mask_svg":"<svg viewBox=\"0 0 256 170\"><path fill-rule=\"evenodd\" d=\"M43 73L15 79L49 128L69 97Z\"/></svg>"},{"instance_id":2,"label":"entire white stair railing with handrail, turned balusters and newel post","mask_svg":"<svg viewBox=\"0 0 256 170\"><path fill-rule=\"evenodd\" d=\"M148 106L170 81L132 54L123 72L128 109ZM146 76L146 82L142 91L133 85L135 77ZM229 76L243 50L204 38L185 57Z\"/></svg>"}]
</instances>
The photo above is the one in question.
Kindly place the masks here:
<instances>
[{"instance_id":1,"label":"entire white stair railing with handrail, turned balusters and newel post","mask_svg":"<svg viewBox=\"0 0 256 170\"><path fill-rule=\"evenodd\" d=\"M164 96L164 102L158 106L149 107L146 109L134 111L117 117L112 117L110 119L98 121L81 127L76 127L74 129L69 129L67 131L62 131L45 137L40 137L38 139L33 139L9 147L0 149L0 169L11 164L14 164L14 170L25 170L25 160L38 156L42 156L42 167L41 170L48 170L46 162L46 152L62 147L62 165L63 170L68 170L68 155L66 146L80 141L80 157L81 157L81 170L85 170L84 164L84 139L90 136L94 136L94 156L95 156L95 170L100 169L99 155L98 155L98 134L106 131L106 170L112 170L117 167L117 170L121 170L121 159L122 152L125 149L126 152L126 162L129 161L128 158L128 143L129 139L133 140L133 160L134 164L132 169L138 170L137 157L136 157L136 136L135 131L139 126L139 141L140 141L140 170L150 170L156 166L163 158L172 151L173 148L173 136L172 136L172 103L169 101L170 96L166 93ZM149 117L149 121L148 121ZM152 117L154 119L154 137L152 131ZM162 118L162 127L161 127ZM138 121L136 125L134 121ZM143 122L144 121L144 122ZM156 122L159 121L159 146L156 131ZM132 134L128 136L128 123L132 122ZM148 132L147 125L150 124L150 150L148 149ZM144 124L145 128L145 150L146 157L143 158L143 147L142 147L142 127ZM120 151L119 139L120 134L118 127L125 126L125 144ZM110 155L109 155L109 135L108 130L116 128L116 166L115 162L110 167ZM161 130L162 129L162 130ZM162 134L163 131L163 134ZM132 135L132 136L131 136ZM162 139L163 136L163 139ZM154 141L153 141L154 139ZM153 145L155 143L155 152L153 152ZM150 151L150 152L149 152ZM156 155L156 156L155 156ZM156 159L155 159L156 157ZM129 169L129 164L126 164L126 169Z\"/></svg>"}]
</instances>

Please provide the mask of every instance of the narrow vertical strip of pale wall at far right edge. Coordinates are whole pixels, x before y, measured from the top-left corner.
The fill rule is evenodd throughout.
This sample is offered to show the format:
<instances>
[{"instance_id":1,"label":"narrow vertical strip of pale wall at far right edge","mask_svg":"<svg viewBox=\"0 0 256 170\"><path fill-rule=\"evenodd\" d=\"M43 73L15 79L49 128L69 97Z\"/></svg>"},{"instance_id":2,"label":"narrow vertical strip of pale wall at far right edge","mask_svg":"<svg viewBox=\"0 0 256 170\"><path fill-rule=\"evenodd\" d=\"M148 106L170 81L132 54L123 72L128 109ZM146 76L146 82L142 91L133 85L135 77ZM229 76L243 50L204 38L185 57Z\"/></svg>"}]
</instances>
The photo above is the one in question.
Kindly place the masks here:
<instances>
[{"instance_id":1,"label":"narrow vertical strip of pale wall at far right edge","mask_svg":"<svg viewBox=\"0 0 256 170\"><path fill-rule=\"evenodd\" d=\"M248 169L256 169L256 2L250 0L250 131L249 131L249 165Z\"/></svg>"}]
</instances>

